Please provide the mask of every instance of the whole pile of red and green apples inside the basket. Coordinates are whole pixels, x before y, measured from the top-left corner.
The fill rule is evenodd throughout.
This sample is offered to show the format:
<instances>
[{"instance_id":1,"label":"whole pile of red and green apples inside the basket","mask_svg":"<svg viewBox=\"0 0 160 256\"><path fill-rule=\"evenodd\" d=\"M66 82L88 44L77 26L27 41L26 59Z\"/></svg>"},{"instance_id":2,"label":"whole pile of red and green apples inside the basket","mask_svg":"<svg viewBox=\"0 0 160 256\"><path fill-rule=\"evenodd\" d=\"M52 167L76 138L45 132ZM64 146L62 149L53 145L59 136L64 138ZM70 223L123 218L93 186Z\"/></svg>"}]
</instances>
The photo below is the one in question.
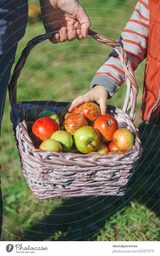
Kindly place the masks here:
<instances>
[{"instance_id":1,"label":"whole pile of red and green apples inside the basket","mask_svg":"<svg viewBox=\"0 0 160 256\"><path fill-rule=\"evenodd\" d=\"M126 128L118 129L110 114L101 115L93 102L75 107L72 113L57 114L33 106L25 112L27 132L35 148L54 152L113 154L129 150L134 137Z\"/></svg>"}]
</instances>

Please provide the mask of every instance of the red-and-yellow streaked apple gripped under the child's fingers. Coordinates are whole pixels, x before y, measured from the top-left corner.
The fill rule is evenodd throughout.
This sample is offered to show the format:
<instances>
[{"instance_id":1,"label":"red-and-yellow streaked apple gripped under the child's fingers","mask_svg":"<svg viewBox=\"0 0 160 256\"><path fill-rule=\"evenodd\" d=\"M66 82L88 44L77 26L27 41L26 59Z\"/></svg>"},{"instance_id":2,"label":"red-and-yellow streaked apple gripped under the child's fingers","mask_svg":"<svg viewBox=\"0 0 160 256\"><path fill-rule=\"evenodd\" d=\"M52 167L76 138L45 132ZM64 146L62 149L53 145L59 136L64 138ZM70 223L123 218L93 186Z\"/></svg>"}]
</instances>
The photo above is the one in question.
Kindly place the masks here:
<instances>
[{"instance_id":1,"label":"red-and-yellow streaked apple gripped under the child's fingers","mask_svg":"<svg viewBox=\"0 0 160 256\"><path fill-rule=\"evenodd\" d=\"M94 121L101 115L99 106L90 101L75 107L72 113L83 115L90 126L93 126Z\"/></svg>"}]
</instances>

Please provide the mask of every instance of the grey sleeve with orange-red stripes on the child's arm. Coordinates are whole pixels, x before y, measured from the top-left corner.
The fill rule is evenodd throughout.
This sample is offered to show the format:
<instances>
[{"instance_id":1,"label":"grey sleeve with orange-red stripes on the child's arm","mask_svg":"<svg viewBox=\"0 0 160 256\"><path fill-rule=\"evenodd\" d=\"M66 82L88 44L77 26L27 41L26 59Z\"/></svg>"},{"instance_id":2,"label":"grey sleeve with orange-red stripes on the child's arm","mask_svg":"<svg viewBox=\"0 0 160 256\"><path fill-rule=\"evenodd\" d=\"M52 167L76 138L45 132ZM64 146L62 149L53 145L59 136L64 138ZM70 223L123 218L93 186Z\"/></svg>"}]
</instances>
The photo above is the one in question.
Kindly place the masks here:
<instances>
[{"instance_id":1,"label":"grey sleeve with orange-red stripes on the child's arm","mask_svg":"<svg viewBox=\"0 0 160 256\"><path fill-rule=\"evenodd\" d=\"M133 70L146 57L149 34L148 0L139 0L134 12L123 30L119 43L127 52ZM101 66L91 82L91 88L102 85L109 91L108 99L125 81L125 72L118 54L113 50L106 62Z\"/></svg>"}]
</instances>

